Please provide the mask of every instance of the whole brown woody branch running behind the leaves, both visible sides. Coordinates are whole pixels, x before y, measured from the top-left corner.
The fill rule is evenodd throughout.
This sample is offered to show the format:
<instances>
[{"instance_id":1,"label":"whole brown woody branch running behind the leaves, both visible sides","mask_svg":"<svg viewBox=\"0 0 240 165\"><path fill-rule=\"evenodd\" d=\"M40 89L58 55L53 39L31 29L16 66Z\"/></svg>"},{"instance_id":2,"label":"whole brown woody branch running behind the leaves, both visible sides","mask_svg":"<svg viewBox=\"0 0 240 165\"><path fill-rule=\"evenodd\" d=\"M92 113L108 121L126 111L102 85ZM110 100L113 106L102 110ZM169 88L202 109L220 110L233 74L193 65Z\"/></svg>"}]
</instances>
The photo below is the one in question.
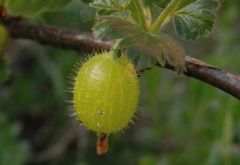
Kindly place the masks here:
<instances>
[{"instance_id":1,"label":"whole brown woody branch running behind the leaves, both visible sides","mask_svg":"<svg viewBox=\"0 0 240 165\"><path fill-rule=\"evenodd\" d=\"M110 43L96 40L91 35L78 35L76 32L51 26L31 25L20 18L6 16L2 11L0 8L0 24L8 29L13 38L30 39L42 44L77 51L91 52L93 50L111 49ZM194 77L240 99L240 76L194 58L186 57L185 62L186 71L184 74L186 76ZM171 65L166 65L164 68L174 71Z\"/></svg>"}]
</instances>

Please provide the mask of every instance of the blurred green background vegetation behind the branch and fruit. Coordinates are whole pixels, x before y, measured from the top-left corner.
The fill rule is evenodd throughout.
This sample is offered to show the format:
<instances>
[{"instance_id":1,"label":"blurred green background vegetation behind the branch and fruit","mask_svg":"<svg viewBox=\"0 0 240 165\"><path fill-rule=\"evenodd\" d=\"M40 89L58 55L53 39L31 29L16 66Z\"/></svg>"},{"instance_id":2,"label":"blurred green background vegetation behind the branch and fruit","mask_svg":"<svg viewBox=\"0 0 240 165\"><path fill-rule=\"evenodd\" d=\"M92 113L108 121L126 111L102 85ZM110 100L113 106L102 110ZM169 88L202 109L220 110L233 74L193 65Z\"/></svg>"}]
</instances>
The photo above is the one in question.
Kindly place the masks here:
<instances>
[{"instance_id":1,"label":"blurred green background vegetation behind the branch and fruit","mask_svg":"<svg viewBox=\"0 0 240 165\"><path fill-rule=\"evenodd\" d=\"M75 0L30 21L90 32L94 15L87 3ZM239 1L224 0L209 38L179 41L190 56L239 74L239 17ZM69 77L83 55L9 41L5 56L11 77L0 85L0 165L240 164L239 100L157 67L140 78L135 125L111 135L109 153L97 156L95 134L79 126L67 103Z\"/></svg>"}]
</instances>

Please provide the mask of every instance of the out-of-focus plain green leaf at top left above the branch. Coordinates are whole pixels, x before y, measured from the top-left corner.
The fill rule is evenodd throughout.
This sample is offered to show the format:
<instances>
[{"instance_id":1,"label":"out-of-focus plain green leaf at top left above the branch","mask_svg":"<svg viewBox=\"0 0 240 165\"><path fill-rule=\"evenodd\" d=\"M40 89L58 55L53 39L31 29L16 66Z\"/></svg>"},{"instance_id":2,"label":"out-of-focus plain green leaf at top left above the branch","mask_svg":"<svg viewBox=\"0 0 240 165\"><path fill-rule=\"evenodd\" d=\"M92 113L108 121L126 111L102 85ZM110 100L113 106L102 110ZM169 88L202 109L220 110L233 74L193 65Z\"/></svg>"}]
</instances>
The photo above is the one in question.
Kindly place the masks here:
<instances>
[{"instance_id":1,"label":"out-of-focus plain green leaf at top left above the branch","mask_svg":"<svg viewBox=\"0 0 240 165\"><path fill-rule=\"evenodd\" d=\"M71 0L5 0L5 6L13 15L33 17L46 11L59 10Z\"/></svg>"}]
</instances>

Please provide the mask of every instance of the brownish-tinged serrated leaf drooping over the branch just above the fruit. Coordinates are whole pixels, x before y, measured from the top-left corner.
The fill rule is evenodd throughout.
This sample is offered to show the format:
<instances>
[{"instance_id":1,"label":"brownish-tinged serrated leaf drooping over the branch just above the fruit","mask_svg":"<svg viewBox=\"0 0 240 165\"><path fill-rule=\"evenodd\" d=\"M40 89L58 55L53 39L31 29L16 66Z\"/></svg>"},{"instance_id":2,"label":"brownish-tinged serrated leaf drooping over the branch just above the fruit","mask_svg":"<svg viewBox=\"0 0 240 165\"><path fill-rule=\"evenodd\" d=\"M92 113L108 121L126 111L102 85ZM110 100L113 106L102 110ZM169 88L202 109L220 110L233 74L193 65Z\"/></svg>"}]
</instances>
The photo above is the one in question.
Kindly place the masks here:
<instances>
[{"instance_id":1,"label":"brownish-tinged serrated leaf drooping over the branch just above the fruit","mask_svg":"<svg viewBox=\"0 0 240 165\"><path fill-rule=\"evenodd\" d=\"M94 34L105 40L121 39L119 48L129 48L140 50L141 54L135 59L145 59L145 64L142 61L135 61L138 69L148 68L150 65L156 64L152 57L162 66L169 63L178 71L184 70L184 51L183 49L169 36L164 34L151 34L144 31L134 22L119 17L99 17L100 23L94 27ZM141 57L141 55L145 57ZM138 65L141 63L141 66ZM148 63L148 64L147 64Z\"/></svg>"}]
</instances>

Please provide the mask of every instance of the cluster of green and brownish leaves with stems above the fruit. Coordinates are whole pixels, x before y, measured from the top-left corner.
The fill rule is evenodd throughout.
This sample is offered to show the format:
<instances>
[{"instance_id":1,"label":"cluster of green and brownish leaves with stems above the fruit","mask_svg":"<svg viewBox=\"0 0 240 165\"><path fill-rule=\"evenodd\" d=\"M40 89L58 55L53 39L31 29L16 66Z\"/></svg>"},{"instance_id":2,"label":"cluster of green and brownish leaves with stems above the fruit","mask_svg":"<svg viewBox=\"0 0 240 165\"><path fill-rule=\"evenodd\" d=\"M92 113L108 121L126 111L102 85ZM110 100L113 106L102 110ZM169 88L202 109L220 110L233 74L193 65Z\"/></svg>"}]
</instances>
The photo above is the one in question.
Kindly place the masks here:
<instances>
[{"instance_id":1,"label":"cluster of green and brownish leaves with stems above the fruit","mask_svg":"<svg viewBox=\"0 0 240 165\"><path fill-rule=\"evenodd\" d=\"M161 8L153 22L151 5ZM172 21L181 38L196 40L207 36L215 22L216 0L94 0L97 23L96 37L120 40L118 48L127 49L138 69L164 66L166 63L182 72L183 48L170 36L162 33L162 26ZM160 22L158 22L160 21ZM159 26L159 27L158 27ZM154 29L154 30L152 30Z\"/></svg>"}]
</instances>

